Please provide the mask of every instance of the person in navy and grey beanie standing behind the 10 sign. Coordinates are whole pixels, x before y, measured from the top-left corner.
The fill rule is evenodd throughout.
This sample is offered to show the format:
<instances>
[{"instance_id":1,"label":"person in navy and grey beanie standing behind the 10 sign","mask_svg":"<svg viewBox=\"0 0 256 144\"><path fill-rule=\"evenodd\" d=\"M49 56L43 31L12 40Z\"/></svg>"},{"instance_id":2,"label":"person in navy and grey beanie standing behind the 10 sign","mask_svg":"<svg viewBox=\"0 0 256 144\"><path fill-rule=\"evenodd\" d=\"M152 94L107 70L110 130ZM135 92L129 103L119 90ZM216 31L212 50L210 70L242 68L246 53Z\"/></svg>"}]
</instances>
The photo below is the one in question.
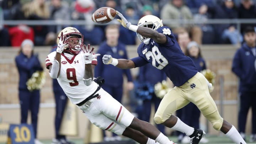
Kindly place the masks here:
<instances>
[{"instance_id":1,"label":"person in navy and grey beanie standing behind the 10 sign","mask_svg":"<svg viewBox=\"0 0 256 144\"><path fill-rule=\"evenodd\" d=\"M32 74L43 68L39 62L38 55L33 53L34 44L30 39L25 39L21 44L21 50L15 58L16 66L20 76L18 90L21 110L21 123L27 123L28 111L31 112L31 123L34 131L35 144L42 144L37 140L37 116L40 103L40 91L29 91L26 85Z\"/></svg>"}]
</instances>

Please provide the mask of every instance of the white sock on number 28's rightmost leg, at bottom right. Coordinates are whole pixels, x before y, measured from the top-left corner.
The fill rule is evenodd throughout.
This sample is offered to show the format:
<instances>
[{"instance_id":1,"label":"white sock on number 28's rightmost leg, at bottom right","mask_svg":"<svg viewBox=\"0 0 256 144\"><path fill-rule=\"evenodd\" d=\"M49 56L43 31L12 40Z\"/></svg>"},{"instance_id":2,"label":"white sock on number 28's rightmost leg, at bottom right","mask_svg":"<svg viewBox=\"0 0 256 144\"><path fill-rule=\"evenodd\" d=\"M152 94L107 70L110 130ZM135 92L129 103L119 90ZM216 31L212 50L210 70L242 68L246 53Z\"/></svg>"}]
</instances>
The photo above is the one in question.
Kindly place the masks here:
<instances>
[{"instance_id":1,"label":"white sock on number 28's rightmost leg, at bottom right","mask_svg":"<svg viewBox=\"0 0 256 144\"><path fill-rule=\"evenodd\" d=\"M233 142L236 144L246 144L244 139L239 134L238 130L232 125L231 129L225 134L227 137L229 137Z\"/></svg>"}]
</instances>

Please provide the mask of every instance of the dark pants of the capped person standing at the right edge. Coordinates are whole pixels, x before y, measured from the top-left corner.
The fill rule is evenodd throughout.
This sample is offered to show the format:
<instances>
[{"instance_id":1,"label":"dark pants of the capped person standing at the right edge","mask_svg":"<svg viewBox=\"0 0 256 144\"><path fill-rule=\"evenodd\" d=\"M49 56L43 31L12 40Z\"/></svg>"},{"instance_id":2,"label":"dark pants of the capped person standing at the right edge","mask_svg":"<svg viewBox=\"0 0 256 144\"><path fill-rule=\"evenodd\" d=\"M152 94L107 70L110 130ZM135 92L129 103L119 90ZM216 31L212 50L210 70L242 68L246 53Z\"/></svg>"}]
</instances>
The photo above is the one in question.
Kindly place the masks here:
<instances>
[{"instance_id":1,"label":"dark pants of the capped person standing at the right edge","mask_svg":"<svg viewBox=\"0 0 256 144\"><path fill-rule=\"evenodd\" d=\"M252 134L256 134L256 92L241 93L238 115L238 129L240 133L245 133L247 114L250 107L252 108Z\"/></svg>"}]
</instances>

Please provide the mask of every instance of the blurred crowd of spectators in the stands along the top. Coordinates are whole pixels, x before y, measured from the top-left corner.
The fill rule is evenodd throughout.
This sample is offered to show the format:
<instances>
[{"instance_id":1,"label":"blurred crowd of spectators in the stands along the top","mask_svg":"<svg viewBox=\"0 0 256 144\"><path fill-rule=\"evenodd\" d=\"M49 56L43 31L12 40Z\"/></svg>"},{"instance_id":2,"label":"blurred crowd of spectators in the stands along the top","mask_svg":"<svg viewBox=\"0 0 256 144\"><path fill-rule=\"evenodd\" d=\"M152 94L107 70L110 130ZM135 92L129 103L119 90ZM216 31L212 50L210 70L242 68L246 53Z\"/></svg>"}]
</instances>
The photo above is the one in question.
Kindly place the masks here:
<instances>
[{"instance_id":1,"label":"blurred crowd of spectators in the stands along the top","mask_svg":"<svg viewBox=\"0 0 256 144\"><path fill-rule=\"evenodd\" d=\"M55 35L67 25L3 25L5 20L85 20L73 26L84 35L85 43L93 45L105 41L105 25L95 25L92 13L103 6L112 7L137 24L145 15L155 15L174 33L187 30L198 44L238 44L247 25L236 23L209 24L208 19L256 18L254 0L0 0L0 46L20 46L31 39L35 46L51 46ZM179 20L177 23L171 20ZM200 23L187 24L186 20ZM240 31L239 31L240 30ZM138 44L134 32L120 27L119 40L124 44Z\"/></svg>"}]
</instances>

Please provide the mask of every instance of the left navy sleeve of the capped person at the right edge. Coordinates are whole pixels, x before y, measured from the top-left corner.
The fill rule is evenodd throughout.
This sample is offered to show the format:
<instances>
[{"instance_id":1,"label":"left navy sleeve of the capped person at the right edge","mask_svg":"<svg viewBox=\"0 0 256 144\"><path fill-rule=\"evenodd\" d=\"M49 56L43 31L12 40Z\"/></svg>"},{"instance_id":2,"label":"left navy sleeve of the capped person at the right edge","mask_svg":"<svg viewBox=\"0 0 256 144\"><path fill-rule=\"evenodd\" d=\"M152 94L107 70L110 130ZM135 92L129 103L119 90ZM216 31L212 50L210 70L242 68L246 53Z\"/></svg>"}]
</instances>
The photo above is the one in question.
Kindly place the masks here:
<instances>
[{"instance_id":1,"label":"left navy sleeve of the capped person at the right edge","mask_svg":"<svg viewBox=\"0 0 256 144\"><path fill-rule=\"evenodd\" d=\"M241 63L241 58L240 58L240 53L239 50L236 51L234 59L233 59L233 64L232 64L232 71L240 78L242 79L242 63Z\"/></svg>"}]
</instances>

